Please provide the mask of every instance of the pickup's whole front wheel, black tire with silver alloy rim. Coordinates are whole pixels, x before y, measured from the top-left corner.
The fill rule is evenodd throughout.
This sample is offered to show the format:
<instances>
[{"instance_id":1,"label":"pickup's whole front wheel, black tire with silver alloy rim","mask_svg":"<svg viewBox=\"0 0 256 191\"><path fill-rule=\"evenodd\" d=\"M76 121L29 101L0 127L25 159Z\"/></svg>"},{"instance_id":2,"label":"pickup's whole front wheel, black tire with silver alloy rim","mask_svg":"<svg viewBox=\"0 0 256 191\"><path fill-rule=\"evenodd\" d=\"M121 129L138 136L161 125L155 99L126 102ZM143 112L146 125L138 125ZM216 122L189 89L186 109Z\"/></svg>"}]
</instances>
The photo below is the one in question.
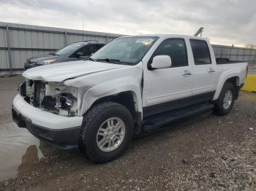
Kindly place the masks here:
<instances>
[{"instance_id":1,"label":"pickup's whole front wheel, black tire with silver alloy rim","mask_svg":"<svg viewBox=\"0 0 256 191\"><path fill-rule=\"evenodd\" d=\"M79 146L96 163L114 160L127 149L133 135L133 120L121 104L97 104L83 117Z\"/></svg>"}]
</instances>

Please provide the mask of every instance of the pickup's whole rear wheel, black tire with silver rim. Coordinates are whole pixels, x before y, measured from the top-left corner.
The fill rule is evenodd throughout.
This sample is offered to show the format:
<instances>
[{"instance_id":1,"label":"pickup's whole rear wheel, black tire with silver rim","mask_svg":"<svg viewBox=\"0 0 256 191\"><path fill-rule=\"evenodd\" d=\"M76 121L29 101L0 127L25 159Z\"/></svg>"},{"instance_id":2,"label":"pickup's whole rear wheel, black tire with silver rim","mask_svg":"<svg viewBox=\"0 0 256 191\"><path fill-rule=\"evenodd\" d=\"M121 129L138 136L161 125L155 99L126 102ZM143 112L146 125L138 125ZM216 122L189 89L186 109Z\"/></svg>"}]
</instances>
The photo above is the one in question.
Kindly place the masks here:
<instances>
[{"instance_id":1,"label":"pickup's whole rear wheel, black tire with silver rim","mask_svg":"<svg viewBox=\"0 0 256 191\"><path fill-rule=\"evenodd\" d=\"M235 87L229 82L225 82L219 98L214 107L214 112L219 115L228 114L233 108L235 101Z\"/></svg>"}]
</instances>

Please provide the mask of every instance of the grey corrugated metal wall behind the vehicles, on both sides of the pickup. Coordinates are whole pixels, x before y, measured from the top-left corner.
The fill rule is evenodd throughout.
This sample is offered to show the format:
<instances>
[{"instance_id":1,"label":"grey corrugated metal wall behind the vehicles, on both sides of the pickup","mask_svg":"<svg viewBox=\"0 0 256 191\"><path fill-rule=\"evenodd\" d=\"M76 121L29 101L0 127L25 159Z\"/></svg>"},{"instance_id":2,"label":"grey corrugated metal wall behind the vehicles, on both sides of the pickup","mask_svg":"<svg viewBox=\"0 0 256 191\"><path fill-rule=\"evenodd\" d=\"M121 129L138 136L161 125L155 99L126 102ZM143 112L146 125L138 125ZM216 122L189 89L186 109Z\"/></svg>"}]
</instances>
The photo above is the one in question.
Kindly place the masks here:
<instances>
[{"instance_id":1,"label":"grey corrugated metal wall behind the vehicles, on both sides of the pickup","mask_svg":"<svg viewBox=\"0 0 256 191\"><path fill-rule=\"evenodd\" d=\"M121 34L0 22L0 74L20 72L27 58L53 52L72 42L85 40L110 42L118 36ZM217 44L213 47L217 58L256 61L256 50L253 49Z\"/></svg>"}]
</instances>

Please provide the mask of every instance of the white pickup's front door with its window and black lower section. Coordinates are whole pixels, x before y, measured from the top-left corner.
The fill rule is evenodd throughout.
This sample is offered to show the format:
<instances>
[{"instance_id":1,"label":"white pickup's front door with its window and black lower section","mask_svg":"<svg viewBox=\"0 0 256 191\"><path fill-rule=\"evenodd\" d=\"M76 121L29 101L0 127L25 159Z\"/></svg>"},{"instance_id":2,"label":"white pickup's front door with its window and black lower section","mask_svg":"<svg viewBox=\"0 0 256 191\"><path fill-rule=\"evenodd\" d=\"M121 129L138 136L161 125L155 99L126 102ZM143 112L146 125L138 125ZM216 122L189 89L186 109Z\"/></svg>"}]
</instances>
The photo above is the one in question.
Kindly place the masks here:
<instances>
[{"instance_id":1,"label":"white pickup's front door with its window and black lower section","mask_svg":"<svg viewBox=\"0 0 256 191\"><path fill-rule=\"evenodd\" d=\"M169 110L173 101L192 95L192 79L184 39L165 39L148 61L156 55L169 55L171 68L145 69L143 85L143 115Z\"/></svg>"}]
</instances>

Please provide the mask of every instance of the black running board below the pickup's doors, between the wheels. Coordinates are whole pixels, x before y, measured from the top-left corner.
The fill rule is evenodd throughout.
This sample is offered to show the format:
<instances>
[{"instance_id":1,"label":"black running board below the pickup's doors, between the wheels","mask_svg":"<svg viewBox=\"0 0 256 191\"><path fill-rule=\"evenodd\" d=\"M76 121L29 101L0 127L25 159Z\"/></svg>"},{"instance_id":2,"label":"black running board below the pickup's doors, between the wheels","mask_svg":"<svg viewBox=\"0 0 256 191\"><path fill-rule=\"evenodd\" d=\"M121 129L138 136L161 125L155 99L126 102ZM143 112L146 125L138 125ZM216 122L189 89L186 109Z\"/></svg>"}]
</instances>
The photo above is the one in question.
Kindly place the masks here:
<instances>
[{"instance_id":1,"label":"black running board below the pickup's doors, between the wheels","mask_svg":"<svg viewBox=\"0 0 256 191\"><path fill-rule=\"evenodd\" d=\"M166 125L170 122L175 122L176 120L180 120L184 117L190 117L195 114L209 111L213 108L214 108L214 104L204 103L204 104L197 104L193 106L187 106L181 109L175 109L170 112L157 114L153 117L147 117L145 120L143 120L142 127L143 127L143 130L152 130L155 128L159 128L162 125Z\"/></svg>"}]
</instances>

